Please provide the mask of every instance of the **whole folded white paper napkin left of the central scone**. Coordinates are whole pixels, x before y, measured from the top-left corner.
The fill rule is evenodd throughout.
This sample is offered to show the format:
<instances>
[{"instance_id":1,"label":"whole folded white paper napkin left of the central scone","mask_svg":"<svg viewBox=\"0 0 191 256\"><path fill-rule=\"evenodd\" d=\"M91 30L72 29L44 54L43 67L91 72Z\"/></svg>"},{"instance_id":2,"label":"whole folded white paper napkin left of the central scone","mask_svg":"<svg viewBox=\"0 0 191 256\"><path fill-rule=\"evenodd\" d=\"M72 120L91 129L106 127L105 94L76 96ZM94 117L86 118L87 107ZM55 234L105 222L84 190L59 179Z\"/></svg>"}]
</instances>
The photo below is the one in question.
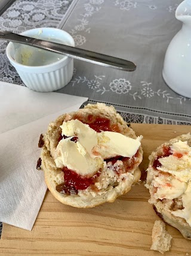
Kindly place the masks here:
<instances>
[{"instance_id":1,"label":"whole folded white paper napkin left of the central scone","mask_svg":"<svg viewBox=\"0 0 191 256\"><path fill-rule=\"evenodd\" d=\"M0 83L0 221L32 230L47 190L44 173L36 170L39 135L50 121L78 110L85 101Z\"/></svg>"}]
</instances>

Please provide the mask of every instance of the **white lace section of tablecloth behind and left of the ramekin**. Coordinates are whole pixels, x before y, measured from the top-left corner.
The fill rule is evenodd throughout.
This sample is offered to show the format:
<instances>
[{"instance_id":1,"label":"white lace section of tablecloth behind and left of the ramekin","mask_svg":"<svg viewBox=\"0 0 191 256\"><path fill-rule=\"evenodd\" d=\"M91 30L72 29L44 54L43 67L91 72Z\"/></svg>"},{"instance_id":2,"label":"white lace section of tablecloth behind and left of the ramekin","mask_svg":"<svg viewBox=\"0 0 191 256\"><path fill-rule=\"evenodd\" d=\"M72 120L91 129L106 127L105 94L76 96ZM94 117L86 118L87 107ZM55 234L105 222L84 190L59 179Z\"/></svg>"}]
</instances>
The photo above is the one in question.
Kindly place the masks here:
<instances>
[{"instance_id":1,"label":"white lace section of tablecloth behind and left of the ramekin","mask_svg":"<svg viewBox=\"0 0 191 256\"><path fill-rule=\"evenodd\" d=\"M1 29L20 34L32 28L57 28L72 0L19 0L0 17ZM24 85L5 54L7 42L0 40L0 80Z\"/></svg>"}]
</instances>

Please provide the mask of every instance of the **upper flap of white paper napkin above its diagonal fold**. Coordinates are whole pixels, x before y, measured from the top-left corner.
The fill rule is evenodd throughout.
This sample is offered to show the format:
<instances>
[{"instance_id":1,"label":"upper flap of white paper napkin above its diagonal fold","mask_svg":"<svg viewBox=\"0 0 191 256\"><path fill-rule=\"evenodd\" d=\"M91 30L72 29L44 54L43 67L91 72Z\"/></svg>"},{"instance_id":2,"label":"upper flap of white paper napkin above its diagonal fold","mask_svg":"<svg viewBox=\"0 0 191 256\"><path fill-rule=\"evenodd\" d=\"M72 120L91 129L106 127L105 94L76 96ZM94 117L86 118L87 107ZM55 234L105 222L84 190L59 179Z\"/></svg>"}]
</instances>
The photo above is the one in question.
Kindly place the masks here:
<instances>
[{"instance_id":1,"label":"upper flap of white paper napkin above its diagonal fold","mask_svg":"<svg viewBox=\"0 0 191 256\"><path fill-rule=\"evenodd\" d=\"M34 92L24 86L0 82L0 134L43 118L44 116L79 106L87 98L56 92Z\"/></svg>"}]
</instances>

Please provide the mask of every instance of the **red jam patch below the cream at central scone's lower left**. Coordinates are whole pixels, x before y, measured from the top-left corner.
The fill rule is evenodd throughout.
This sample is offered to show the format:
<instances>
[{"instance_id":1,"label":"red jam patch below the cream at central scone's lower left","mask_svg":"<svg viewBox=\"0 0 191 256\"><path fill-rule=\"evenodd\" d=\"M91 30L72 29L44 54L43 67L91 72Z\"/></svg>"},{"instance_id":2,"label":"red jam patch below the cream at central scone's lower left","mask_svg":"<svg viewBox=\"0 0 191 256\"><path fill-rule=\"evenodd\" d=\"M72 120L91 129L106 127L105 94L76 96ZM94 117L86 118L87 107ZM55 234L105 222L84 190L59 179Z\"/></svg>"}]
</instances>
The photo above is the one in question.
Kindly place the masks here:
<instances>
[{"instance_id":1,"label":"red jam patch below the cream at central scone's lower left","mask_svg":"<svg viewBox=\"0 0 191 256\"><path fill-rule=\"evenodd\" d=\"M64 192L64 194L78 194L78 190L87 189L88 186L94 185L97 177L100 173L96 173L93 177L81 176L75 171L69 170L67 167L63 168L64 183L61 183L56 187L58 192Z\"/></svg>"}]
</instances>

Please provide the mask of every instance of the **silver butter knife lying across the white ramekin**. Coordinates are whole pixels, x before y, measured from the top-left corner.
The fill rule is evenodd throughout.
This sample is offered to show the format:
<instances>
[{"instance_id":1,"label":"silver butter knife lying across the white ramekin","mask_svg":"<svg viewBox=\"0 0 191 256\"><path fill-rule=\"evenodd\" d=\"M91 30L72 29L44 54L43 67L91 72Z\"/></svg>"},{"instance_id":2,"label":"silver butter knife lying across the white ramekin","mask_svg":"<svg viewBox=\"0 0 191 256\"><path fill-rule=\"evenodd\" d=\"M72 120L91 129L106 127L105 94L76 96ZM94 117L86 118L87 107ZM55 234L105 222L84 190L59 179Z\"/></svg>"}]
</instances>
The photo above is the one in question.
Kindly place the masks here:
<instances>
[{"instance_id":1,"label":"silver butter knife lying across the white ramekin","mask_svg":"<svg viewBox=\"0 0 191 256\"><path fill-rule=\"evenodd\" d=\"M136 69L136 65L133 62L126 61L125 59L119 59L97 52L91 52L72 46L66 46L64 44L25 37L24 35L14 34L9 31L0 31L0 39L27 44L28 46L48 50L50 52L61 53L68 57L80 59L81 61L91 62L94 64L102 65L104 67L116 68L117 70L134 71Z\"/></svg>"}]
</instances>

